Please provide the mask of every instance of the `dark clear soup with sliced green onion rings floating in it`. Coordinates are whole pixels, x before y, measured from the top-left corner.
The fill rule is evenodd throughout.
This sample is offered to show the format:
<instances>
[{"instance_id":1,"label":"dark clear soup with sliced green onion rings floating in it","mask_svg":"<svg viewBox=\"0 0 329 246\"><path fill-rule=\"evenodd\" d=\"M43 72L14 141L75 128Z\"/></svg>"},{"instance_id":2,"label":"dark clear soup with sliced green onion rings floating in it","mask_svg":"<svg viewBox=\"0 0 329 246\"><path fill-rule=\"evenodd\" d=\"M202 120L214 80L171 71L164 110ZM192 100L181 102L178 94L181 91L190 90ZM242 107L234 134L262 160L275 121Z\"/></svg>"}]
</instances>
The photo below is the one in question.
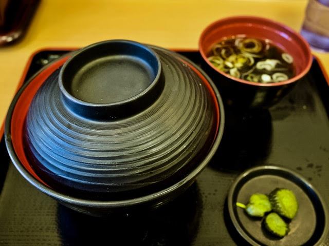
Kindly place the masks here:
<instances>
[{"instance_id":1,"label":"dark clear soup with sliced green onion rings floating in it","mask_svg":"<svg viewBox=\"0 0 329 246\"><path fill-rule=\"evenodd\" d=\"M252 82L277 83L296 74L290 54L257 38L225 38L212 46L207 57L218 70Z\"/></svg>"}]
</instances>

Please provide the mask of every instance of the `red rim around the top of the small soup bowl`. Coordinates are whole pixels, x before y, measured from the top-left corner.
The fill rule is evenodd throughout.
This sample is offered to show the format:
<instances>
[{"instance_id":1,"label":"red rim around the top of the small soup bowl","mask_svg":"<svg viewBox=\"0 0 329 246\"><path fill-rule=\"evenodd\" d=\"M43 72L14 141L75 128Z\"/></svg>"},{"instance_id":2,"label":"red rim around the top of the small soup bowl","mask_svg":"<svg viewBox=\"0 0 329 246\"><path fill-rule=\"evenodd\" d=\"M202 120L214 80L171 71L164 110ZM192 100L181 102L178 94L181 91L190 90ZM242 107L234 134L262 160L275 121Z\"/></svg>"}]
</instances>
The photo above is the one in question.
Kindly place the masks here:
<instances>
[{"instance_id":1,"label":"red rim around the top of the small soup bowl","mask_svg":"<svg viewBox=\"0 0 329 246\"><path fill-rule=\"evenodd\" d=\"M248 81L248 80L244 80L244 79L240 79L240 78L235 78L225 72L218 70L215 66L213 66L210 63L210 61L207 58L208 50L205 50L204 39L208 36L208 34L210 32L215 30L217 28L217 26L219 26L219 25L223 25L223 26L224 25L237 25L239 23L241 25L245 25L245 26L250 25L250 23L257 24L258 26L262 26L262 28L264 28L264 29L272 29L275 33L277 33L280 36L283 36L286 39L288 39L290 37L289 39L294 40L294 43L296 43L296 44L299 43L301 45L301 49L306 54L305 55L306 60L307 60L306 66L301 70L301 72L296 74L296 76L294 76L293 78L290 78L290 79L287 79L284 81L280 81L277 83L267 83L267 84L252 82L252 81ZM288 35L287 35L287 33L288 33ZM235 35L240 35L240 34L244 35L244 33L236 33ZM219 40L221 40L222 38L224 38L224 36L218 38L217 42ZM296 40L298 40L298 42ZM272 43L275 44L275 42L272 42ZM215 44L215 43L213 43L213 44ZM220 74L224 75L225 77L228 77L232 80L239 81L240 83L248 84L248 85L252 85L252 86L271 87L271 86L282 86L282 85L294 83L296 80L302 78L309 71L310 67L312 66L312 61L313 61L313 56L312 56L310 47L309 47L308 43L306 42L306 40L299 33L297 33L295 30L291 29L290 27L287 27L279 22L276 22L275 20L258 17L258 16L232 16L232 17L227 17L227 18L222 18L222 19L216 20L215 22L211 23L209 26L207 26L203 30L202 34L200 35L198 45L199 45L199 52L200 52L201 56L212 69L214 69L218 73L220 73ZM210 45L210 47L211 47L211 45ZM209 47L207 47L207 48L209 48ZM282 48L282 47L280 47L280 48Z\"/></svg>"}]
</instances>

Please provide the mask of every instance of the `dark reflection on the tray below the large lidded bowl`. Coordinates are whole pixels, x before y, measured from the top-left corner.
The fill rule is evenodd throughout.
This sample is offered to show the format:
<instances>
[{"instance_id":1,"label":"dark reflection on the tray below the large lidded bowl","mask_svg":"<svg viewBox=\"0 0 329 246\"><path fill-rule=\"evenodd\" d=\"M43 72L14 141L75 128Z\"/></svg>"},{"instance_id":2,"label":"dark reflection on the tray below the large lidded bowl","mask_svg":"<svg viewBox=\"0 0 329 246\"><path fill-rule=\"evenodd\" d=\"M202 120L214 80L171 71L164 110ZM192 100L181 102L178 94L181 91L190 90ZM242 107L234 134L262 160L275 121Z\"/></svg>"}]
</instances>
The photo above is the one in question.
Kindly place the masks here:
<instances>
[{"instance_id":1,"label":"dark reflection on the tray below the large lidded bowl","mask_svg":"<svg viewBox=\"0 0 329 246\"><path fill-rule=\"evenodd\" d=\"M194 183L184 195L151 214L98 218L58 206L58 228L70 245L190 245L197 234L200 208L202 200Z\"/></svg>"}]
</instances>

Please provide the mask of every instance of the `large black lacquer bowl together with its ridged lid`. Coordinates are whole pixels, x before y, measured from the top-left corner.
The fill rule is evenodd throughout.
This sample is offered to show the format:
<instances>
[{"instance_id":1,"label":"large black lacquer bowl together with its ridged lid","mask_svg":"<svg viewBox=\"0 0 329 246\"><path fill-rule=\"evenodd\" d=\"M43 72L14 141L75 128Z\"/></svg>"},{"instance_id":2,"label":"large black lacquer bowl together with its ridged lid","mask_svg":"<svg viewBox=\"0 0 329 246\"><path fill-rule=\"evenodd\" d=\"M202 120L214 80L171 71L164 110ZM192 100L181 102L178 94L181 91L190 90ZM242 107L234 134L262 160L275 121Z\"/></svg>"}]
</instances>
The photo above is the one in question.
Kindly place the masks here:
<instances>
[{"instance_id":1,"label":"large black lacquer bowl together with its ridged lid","mask_svg":"<svg viewBox=\"0 0 329 246\"><path fill-rule=\"evenodd\" d=\"M156 208L185 191L224 128L221 96L188 59L109 40L72 52L15 96L11 159L39 190L85 213Z\"/></svg>"}]
</instances>

